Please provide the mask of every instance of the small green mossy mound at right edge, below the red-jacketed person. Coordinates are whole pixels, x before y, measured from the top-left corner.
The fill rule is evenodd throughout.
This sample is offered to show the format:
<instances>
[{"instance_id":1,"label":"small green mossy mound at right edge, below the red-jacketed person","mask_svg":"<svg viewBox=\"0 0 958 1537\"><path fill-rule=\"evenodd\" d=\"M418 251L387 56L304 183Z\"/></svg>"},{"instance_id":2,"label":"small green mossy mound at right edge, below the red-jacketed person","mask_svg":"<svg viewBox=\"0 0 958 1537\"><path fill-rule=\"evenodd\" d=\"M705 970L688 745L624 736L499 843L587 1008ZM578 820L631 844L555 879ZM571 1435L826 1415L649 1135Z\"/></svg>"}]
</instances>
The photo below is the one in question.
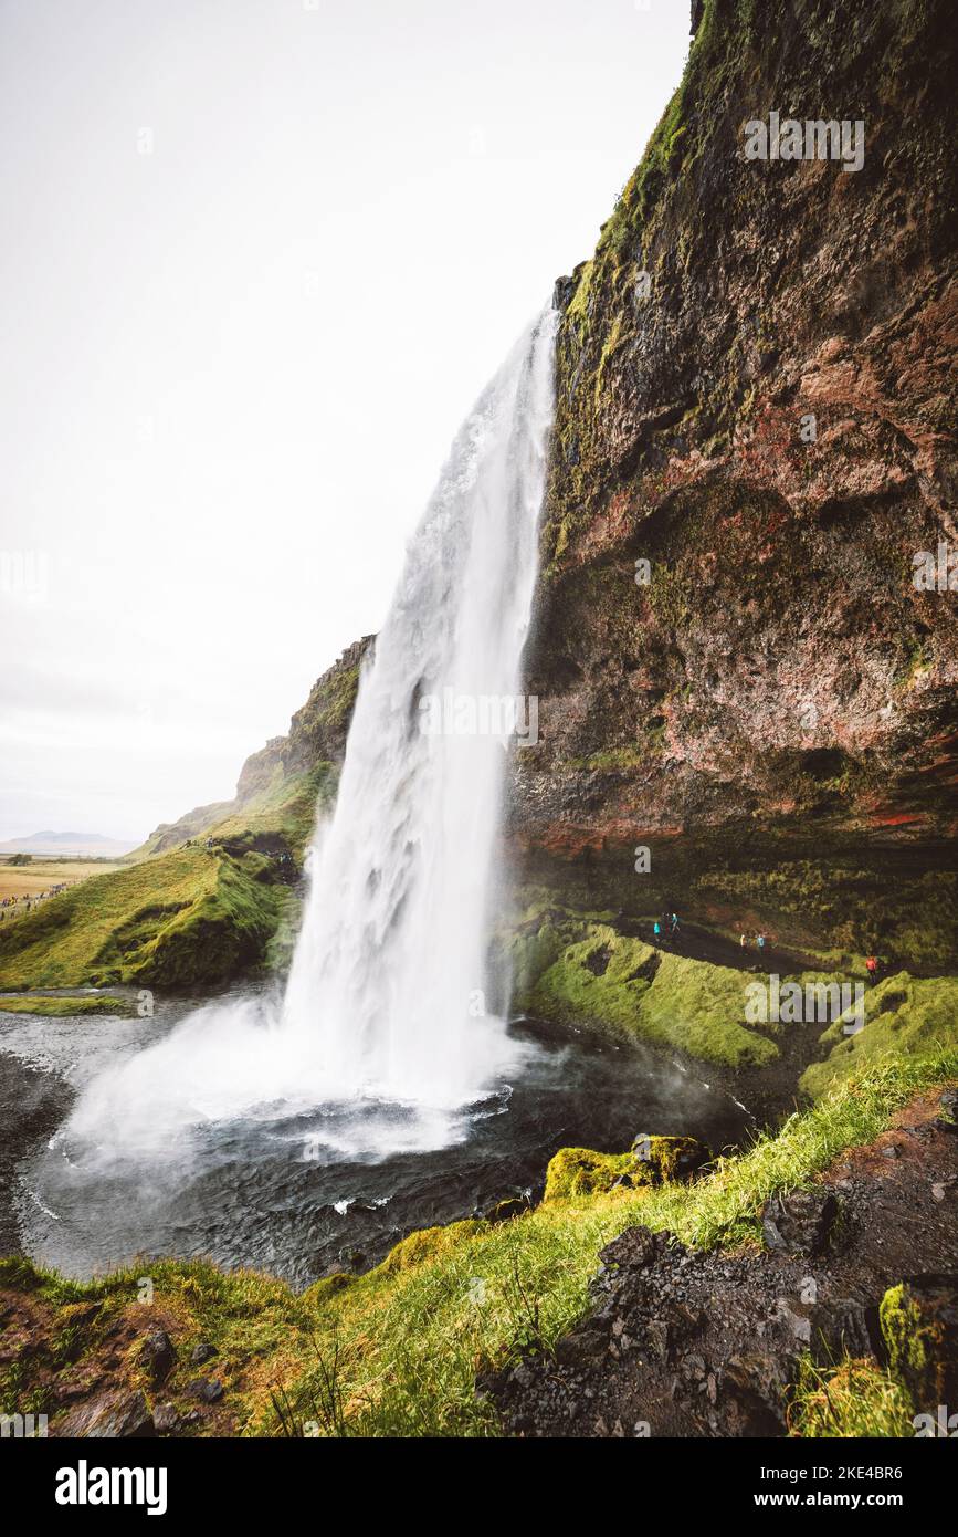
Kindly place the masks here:
<instances>
[{"instance_id":1,"label":"small green mossy mound at right edge, below the red-jacketed person","mask_svg":"<svg viewBox=\"0 0 958 1537\"><path fill-rule=\"evenodd\" d=\"M958 1045L958 978L898 971L864 996L864 1028L846 1036L835 1021L821 1036L829 1054L812 1062L800 1087L812 1099L886 1057L923 1057Z\"/></svg>"}]
</instances>

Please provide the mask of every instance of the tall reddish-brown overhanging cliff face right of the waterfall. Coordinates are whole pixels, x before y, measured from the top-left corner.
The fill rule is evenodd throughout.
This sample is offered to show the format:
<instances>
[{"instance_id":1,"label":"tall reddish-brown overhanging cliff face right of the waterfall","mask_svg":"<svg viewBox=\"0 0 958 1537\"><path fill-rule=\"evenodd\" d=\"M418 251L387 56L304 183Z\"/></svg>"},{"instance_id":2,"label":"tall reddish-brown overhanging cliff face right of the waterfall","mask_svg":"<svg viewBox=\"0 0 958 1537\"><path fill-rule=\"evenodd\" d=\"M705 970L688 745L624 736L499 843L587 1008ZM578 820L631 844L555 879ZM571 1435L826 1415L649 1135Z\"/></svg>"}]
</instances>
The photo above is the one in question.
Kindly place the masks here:
<instances>
[{"instance_id":1,"label":"tall reddish-brown overhanging cliff face right of the waterfall","mask_svg":"<svg viewBox=\"0 0 958 1537\"><path fill-rule=\"evenodd\" d=\"M573 861L628 908L643 842L683 901L745 845L752 868L953 868L958 592L913 581L918 552L958 561L953 74L943 0L705 6L557 284L527 873ZM860 169L811 132L812 158L746 158L772 112L847 121Z\"/></svg>"}]
</instances>

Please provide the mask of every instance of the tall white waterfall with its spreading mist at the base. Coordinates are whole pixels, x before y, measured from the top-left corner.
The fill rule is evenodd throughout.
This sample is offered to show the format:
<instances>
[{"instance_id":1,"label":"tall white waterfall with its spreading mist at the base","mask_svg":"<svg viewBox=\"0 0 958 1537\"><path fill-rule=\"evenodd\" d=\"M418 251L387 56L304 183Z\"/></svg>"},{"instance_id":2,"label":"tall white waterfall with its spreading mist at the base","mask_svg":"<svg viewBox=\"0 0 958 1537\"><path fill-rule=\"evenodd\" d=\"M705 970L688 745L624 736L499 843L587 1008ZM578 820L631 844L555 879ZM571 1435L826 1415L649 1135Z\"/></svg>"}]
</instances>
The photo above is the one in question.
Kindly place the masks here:
<instances>
[{"instance_id":1,"label":"tall white waterfall with its spreading mist at the base","mask_svg":"<svg viewBox=\"0 0 958 1537\"><path fill-rule=\"evenodd\" d=\"M365 1097L441 1111L507 1064L505 1024L487 1013L487 942L508 707L490 716L516 699L530 626L554 326L548 310L485 389L410 543L336 807L316 832L281 1007L203 1008L98 1077L71 1131L132 1151L278 1105ZM441 710L425 732L430 701L450 695L465 704L461 730ZM434 1145L442 1131L422 1120Z\"/></svg>"}]
</instances>

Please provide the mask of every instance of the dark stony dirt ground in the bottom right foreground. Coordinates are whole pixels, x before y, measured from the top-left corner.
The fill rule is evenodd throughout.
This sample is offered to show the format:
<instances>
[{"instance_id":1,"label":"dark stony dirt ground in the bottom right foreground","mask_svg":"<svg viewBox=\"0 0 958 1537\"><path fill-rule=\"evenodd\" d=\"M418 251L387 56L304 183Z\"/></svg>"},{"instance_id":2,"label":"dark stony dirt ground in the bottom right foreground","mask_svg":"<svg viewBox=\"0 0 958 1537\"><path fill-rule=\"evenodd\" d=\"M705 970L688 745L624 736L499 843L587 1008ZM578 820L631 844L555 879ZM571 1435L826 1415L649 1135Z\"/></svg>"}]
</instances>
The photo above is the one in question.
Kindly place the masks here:
<instances>
[{"instance_id":1,"label":"dark stony dirt ground in the bottom right foreground","mask_svg":"<svg viewBox=\"0 0 958 1537\"><path fill-rule=\"evenodd\" d=\"M774 1248L695 1251L628 1228L602 1250L593 1311L554 1354L481 1379L505 1431L781 1436L803 1353L886 1359L878 1311L901 1280L950 1359L958 1223L933 1188L958 1174L958 1136L937 1111L932 1096L812 1191L769 1202Z\"/></svg>"}]
</instances>

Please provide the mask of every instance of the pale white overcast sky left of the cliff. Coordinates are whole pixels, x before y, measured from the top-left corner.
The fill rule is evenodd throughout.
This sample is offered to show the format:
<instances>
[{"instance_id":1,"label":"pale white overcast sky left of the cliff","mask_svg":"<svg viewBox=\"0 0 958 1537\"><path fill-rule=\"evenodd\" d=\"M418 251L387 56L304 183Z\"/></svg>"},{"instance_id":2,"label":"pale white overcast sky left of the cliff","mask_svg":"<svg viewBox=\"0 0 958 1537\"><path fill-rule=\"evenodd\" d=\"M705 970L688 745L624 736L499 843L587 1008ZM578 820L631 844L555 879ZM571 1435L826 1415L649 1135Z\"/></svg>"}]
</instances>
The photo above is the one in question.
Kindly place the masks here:
<instances>
[{"instance_id":1,"label":"pale white overcast sky left of the cliff","mask_svg":"<svg viewBox=\"0 0 958 1537\"><path fill-rule=\"evenodd\" d=\"M0 839L227 799L379 627L688 15L2 0Z\"/></svg>"}]
</instances>

